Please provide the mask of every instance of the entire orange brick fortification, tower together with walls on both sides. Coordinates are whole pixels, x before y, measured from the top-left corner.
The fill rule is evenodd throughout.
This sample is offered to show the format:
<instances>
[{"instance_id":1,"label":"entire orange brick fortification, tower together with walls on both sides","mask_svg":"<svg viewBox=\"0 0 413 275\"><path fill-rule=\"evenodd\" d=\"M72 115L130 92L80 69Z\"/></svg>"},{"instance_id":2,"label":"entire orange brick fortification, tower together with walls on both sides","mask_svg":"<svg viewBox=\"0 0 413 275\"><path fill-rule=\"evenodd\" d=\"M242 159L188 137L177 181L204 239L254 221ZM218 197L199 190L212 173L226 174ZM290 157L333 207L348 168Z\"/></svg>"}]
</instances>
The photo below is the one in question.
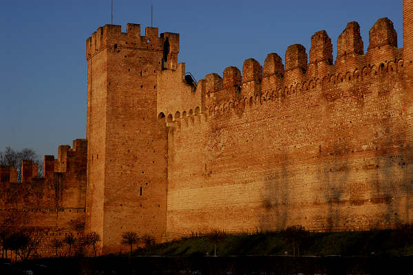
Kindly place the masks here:
<instances>
[{"instance_id":1,"label":"entire orange brick fortification, tower together with walls on both sides","mask_svg":"<svg viewBox=\"0 0 413 275\"><path fill-rule=\"evenodd\" d=\"M179 34L98 28L86 41L87 148L46 156L45 179L25 162L21 184L0 166L1 209L37 209L33 225L56 234L96 231L103 254L127 250L126 231L159 242L412 223L412 14L404 0L403 48L383 18L364 53L350 22L335 61L321 30L285 64L271 53L198 83L177 62Z\"/></svg>"}]
</instances>

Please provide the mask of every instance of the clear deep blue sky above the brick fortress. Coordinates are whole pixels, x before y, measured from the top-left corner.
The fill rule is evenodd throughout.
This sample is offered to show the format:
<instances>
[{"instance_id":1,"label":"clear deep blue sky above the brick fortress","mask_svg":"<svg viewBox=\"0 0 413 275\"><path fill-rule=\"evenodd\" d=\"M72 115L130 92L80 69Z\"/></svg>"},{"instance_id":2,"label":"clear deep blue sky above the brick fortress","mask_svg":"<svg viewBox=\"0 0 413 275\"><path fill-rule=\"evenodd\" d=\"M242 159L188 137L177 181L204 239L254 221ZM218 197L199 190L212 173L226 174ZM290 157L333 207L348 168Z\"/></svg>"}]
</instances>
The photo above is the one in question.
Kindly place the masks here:
<instances>
[{"instance_id":1,"label":"clear deep blue sky above the brick fortress","mask_svg":"<svg viewBox=\"0 0 413 275\"><path fill-rule=\"evenodd\" d=\"M314 32L326 30L334 58L337 37L350 21L368 31L388 17L403 47L402 1L131 1L114 0L114 23L151 24L180 33L178 62L197 80L246 58L262 65L266 54L284 60L288 45L310 50ZM85 40L110 23L110 0L16 0L0 2L0 150L34 148L57 155L60 144L86 136Z\"/></svg>"}]
</instances>

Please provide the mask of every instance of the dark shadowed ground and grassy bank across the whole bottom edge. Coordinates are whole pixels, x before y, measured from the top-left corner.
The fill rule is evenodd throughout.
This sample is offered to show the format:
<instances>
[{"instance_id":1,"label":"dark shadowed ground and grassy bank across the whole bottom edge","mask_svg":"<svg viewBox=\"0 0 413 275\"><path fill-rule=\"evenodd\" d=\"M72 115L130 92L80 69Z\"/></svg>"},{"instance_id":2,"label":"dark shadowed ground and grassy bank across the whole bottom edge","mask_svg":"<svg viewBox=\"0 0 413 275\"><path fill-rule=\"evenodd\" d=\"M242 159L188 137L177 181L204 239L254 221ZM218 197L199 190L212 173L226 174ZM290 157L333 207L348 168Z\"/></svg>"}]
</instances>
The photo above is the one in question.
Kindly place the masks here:
<instances>
[{"instance_id":1,"label":"dark shadowed ground and grassy bank across the whole bottom edge","mask_svg":"<svg viewBox=\"0 0 413 275\"><path fill-rule=\"evenodd\" d=\"M156 244L125 234L128 254L10 263L0 274L410 274L413 227L308 232L301 227L255 234L210 234ZM213 256L214 254L218 256Z\"/></svg>"}]
</instances>

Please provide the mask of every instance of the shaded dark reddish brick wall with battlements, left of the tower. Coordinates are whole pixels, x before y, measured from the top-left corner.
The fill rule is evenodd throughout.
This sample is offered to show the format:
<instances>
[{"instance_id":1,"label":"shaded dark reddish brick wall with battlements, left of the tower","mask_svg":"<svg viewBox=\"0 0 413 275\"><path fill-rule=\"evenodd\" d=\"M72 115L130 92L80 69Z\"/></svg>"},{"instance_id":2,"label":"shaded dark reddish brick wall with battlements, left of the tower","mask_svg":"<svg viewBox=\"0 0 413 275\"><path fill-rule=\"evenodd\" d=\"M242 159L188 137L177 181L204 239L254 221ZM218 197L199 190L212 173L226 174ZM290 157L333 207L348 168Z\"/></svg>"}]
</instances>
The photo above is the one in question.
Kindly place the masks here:
<instances>
[{"instance_id":1,"label":"shaded dark reddish brick wall with battlements, left of the tower","mask_svg":"<svg viewBox=\"0 0 413 275\"><path fill-rule=\"evenodd\" d=\"M72 148L59 146L57 159L45 155L44 177L37 176L37 166L31 160L23 160L21 182L17 182L15 168L0 167L2 225L9 226L7 220L12 218L12 225L42 234L40 256L55 255L50 245L53 239L70 233L83 235L86 157L86 140L74 140Z\"/></svg>"}]
</instances>

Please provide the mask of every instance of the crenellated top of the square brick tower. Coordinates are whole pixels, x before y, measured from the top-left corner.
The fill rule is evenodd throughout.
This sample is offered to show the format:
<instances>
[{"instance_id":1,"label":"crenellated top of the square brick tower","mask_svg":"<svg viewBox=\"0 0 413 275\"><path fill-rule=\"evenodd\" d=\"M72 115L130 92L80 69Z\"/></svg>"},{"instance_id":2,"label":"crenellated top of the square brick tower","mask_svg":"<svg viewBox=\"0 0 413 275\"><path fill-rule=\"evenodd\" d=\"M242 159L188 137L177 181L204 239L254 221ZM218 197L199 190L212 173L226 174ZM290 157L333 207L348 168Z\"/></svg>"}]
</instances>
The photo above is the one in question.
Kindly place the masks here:
<instances>
[{"instance_id":1,"label":"crenellated top of the square brick tower","mask_svg":"<svg viewBox=\"0 0 413 275\"><path fill-rule=\"evenodd\" d=\"M104 25L86 40L86 59L92 58L103 49L114 51L120 48L160 51L169 48L169 55L179 52L179 34L164 32L158 35L158 28L145 28L145 35L140 34L140 24L127 23L127 31L122 32L120 25Z\"/></svg>"}]
</instances>

